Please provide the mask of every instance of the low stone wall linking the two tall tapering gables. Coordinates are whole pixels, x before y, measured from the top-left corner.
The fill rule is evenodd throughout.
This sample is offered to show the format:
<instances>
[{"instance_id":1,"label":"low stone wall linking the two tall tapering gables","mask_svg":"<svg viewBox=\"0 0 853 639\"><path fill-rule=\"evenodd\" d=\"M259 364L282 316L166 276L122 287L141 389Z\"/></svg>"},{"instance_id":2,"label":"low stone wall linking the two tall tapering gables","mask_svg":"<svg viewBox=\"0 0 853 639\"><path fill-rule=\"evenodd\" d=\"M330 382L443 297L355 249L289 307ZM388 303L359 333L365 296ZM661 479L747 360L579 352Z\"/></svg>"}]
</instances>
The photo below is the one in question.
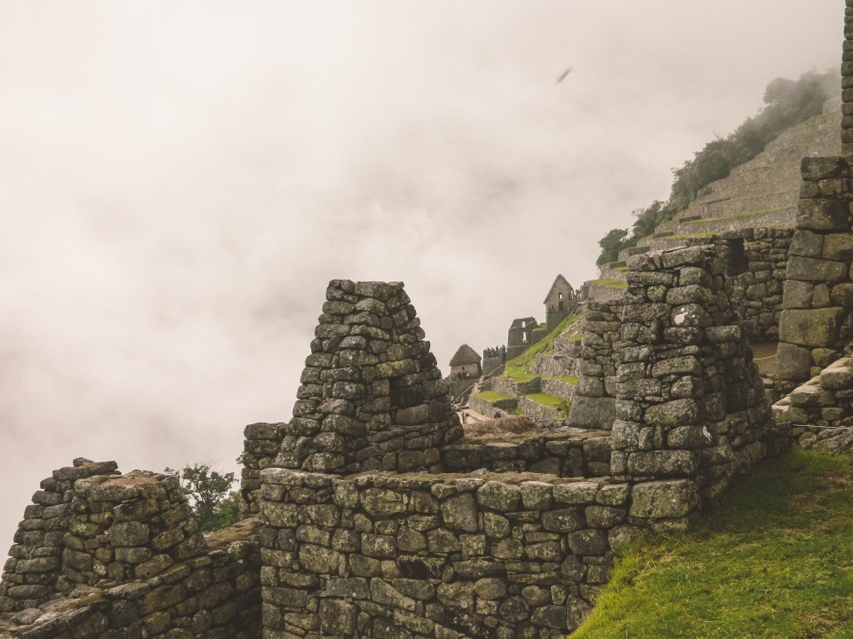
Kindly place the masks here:
<instances>
[{"instance_id":1,"label":"low stone wall linking the two tall tapering gables","mask_svg":"<svg viewBox=\"0 0 853 639\"><path fill-rule=\"evenodd\" d=\"M446 472L534 472L557 477L610 475L610 432L557 429L512 441L464 438L442 448Z\"/></svg>"}]
</instances>

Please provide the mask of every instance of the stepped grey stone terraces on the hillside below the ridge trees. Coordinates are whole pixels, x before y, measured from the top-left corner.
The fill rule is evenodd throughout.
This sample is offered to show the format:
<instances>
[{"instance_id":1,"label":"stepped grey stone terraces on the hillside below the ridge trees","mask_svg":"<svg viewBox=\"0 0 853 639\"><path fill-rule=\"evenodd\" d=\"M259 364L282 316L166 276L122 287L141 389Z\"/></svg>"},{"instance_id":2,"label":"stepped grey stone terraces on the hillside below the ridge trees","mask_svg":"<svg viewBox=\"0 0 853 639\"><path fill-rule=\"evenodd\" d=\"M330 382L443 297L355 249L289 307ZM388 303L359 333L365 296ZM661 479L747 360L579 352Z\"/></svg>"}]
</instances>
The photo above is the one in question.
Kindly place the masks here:
<instances>
[{"instance_id":1,"label":"stepped grey stone terraces on the hillside below the ridge trees","mask_svg":"<svg viewBox=\"0 0 853 639\"><path fill-rule=\"evenodd\" d=\"M793 228L800 193L800 162L807 155L841 154L841 101L827 100L824 112L785 130L761 154L707 185L688 209L658 225L619 261L602 267L602 278L623 279L625 260L637 253L705 240L745 228Z\"/></svg>"}]
</instances>

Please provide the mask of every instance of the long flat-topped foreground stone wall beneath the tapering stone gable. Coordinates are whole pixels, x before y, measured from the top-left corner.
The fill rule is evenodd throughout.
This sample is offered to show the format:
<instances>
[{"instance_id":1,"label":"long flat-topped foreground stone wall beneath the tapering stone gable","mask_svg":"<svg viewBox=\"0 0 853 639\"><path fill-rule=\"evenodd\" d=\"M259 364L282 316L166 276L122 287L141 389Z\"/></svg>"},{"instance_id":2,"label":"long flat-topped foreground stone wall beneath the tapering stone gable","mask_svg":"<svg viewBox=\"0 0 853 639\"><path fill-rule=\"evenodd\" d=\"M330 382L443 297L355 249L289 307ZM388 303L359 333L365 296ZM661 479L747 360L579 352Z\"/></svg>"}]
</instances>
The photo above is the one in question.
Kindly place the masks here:
<instances>
[{"instance_id":1,"label":"long flat-topped foreground stone wall beneath the tapering stone gable","mask_svg":"<svg viewBox=\"0 0 853 639\"><path fill-rule=\"evenodd\" d=\"M604 481L262 476L267 637L562 638L642 521Z\"/></svg>"}]
</instances>

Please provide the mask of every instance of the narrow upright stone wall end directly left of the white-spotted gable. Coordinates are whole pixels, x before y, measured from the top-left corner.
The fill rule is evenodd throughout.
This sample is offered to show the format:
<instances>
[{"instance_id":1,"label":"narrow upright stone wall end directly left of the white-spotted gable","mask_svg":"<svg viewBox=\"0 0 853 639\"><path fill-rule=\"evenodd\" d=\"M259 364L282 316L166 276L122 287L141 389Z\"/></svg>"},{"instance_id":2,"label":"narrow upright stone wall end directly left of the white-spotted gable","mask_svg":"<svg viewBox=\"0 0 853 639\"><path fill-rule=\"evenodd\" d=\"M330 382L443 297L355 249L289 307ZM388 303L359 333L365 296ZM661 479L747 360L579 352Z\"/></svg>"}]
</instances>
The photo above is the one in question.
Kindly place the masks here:
<instances>
[{"instance_id":1,"label":"narrow upright stone wall end directly left of the white-spotted gable","mask_svg":"<svg viewBox=\"0 0 853 639\"><path fill-rule=\"evenodd\" d=\"M621 296L616 300L586 302L580 376L568 420L571 426L612 428L616 418L616 368L622 304Z\"/></svg>"}]
</instances>

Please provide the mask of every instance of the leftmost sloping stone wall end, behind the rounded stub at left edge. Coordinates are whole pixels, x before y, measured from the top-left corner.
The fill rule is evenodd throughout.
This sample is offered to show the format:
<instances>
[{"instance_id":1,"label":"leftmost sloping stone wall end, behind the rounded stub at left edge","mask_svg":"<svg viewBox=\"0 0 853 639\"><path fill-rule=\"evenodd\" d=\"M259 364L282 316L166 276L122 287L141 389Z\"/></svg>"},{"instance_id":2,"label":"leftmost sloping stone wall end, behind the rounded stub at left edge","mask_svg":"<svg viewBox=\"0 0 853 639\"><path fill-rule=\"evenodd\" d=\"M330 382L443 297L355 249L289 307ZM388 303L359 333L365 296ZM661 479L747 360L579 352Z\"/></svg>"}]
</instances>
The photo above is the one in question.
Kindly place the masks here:
<instances>
[{"instance_id":1,"label":"leftmost sloping stone wall end, behind the rounded stub at left edge","mask_svg":"<svg viewBox=\"0 0 853 639\"><path fill-rule=\"evenodd\" d=\"M15 533L0 580L0 612L35 608L57 596L63 574L64 539L73 524L72 499L81 479L116 473L116 462L84 458L54 470L33 494Z\"/></svg>"}]
</instances>

